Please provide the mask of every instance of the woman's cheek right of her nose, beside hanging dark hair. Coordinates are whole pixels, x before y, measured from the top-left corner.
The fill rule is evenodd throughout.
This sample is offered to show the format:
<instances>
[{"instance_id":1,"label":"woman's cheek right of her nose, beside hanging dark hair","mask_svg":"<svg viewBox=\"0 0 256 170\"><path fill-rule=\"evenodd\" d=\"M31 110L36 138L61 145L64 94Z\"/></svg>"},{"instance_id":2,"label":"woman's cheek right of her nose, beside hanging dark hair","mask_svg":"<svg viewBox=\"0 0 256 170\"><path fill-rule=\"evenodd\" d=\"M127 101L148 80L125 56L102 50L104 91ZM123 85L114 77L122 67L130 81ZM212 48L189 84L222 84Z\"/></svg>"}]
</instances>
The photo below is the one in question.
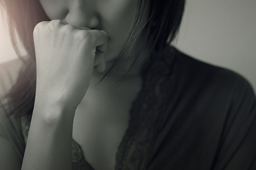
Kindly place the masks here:
<instances>
[{"instance_id":1,"label":"woman's cheek right of her nose, beside hanging dark hair","mask_svg":"<svg viewBox=\"0 0 256 170\"><path fill-rule=\"evenodd\" d=\"M100 11L102 29L108 32L109 51L120 52L131 28L137 0L109 0L101 3Z\"/></svg>"}]
</instances>

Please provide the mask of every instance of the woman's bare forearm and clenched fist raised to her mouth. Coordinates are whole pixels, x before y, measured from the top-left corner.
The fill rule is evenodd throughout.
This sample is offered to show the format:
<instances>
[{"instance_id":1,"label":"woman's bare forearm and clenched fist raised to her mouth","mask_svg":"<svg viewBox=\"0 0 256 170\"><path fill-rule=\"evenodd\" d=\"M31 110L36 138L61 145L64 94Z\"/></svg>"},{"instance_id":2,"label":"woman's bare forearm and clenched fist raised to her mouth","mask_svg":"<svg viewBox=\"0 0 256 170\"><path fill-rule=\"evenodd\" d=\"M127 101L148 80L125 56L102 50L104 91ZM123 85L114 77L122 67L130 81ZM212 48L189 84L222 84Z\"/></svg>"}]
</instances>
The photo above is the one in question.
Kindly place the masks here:
<instances>
[{"instance_id":1,"label":"woman's bare forearm and clenched fist raised to her mouth","mask_svg":"<svg viewBox=\"0 0 256 170\"><path fill-rule=\"evenodd\" d=\"M96 51L106 51L108 35L52 20L38 23L33 37L35 106L21 170L71 170L76 107L89 87L94 60L101 57Z\"/></svg>"}]
</instances>

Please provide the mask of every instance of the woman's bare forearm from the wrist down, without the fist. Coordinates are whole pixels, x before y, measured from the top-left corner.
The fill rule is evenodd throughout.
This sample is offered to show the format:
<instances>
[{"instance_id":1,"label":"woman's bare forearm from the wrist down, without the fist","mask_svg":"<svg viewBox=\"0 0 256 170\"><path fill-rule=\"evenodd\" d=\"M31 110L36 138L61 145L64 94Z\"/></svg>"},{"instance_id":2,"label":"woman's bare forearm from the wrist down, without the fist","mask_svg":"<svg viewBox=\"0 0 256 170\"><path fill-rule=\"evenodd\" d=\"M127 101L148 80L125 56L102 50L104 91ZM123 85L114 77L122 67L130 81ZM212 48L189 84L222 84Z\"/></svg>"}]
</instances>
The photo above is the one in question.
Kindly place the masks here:
<instances>
[{"instance_id":1,"label":"woman's bare forearm from the wrist down, without the fist","mask_svg":"<svg viewBox=\"0 0 256 170\"><path fill-rule=\"evenodd\" d=\"M75 110L36 106L21 170L71 170Z\"/></svg>"}]
</instances>

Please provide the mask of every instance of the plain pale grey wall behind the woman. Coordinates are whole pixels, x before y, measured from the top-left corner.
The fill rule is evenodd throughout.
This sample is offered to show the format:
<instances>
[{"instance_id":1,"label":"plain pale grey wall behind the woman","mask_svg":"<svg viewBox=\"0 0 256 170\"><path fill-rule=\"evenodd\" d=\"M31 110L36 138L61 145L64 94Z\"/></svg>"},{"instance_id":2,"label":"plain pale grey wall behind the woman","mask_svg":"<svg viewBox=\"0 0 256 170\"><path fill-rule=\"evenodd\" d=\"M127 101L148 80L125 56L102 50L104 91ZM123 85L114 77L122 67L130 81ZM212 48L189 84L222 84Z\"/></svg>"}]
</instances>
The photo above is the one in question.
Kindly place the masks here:
<instances>
[{"instance_id":1,"label":"plain pale grey wall behind the woman","mask_svg":"<svg viewBox=\"0 0 256 170\"><path fill-rule=\"evenodd\" d=\"M256 0L187 0L181 51L244 76L256 91ZM15 59L6 22L0 16L0 62Z\"/></svg>"}]
</instances>

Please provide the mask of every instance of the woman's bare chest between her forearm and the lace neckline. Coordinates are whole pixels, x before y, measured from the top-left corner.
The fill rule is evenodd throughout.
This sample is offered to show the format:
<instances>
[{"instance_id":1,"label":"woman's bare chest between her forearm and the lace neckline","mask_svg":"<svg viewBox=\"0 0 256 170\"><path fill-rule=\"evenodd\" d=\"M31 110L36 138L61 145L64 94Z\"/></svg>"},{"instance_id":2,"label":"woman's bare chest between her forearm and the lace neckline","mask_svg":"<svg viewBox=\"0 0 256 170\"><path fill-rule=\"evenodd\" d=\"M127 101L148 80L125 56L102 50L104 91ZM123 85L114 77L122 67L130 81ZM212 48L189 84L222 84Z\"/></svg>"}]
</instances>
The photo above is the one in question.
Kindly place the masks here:
<instances>
[{"instance_id":1,"label":"woman's bare chest between her forearm and the lace neckline","mask_svg":"<svg viewBox=\"0 0 256 170\"><path fill-rule=\"evenodd\" d=\"M113 170L115 156L128 128L131 104L140 91L140 81L118 88L88 88L76 109L73 139L96 170Z\"/></svg>"}]
</instances>

